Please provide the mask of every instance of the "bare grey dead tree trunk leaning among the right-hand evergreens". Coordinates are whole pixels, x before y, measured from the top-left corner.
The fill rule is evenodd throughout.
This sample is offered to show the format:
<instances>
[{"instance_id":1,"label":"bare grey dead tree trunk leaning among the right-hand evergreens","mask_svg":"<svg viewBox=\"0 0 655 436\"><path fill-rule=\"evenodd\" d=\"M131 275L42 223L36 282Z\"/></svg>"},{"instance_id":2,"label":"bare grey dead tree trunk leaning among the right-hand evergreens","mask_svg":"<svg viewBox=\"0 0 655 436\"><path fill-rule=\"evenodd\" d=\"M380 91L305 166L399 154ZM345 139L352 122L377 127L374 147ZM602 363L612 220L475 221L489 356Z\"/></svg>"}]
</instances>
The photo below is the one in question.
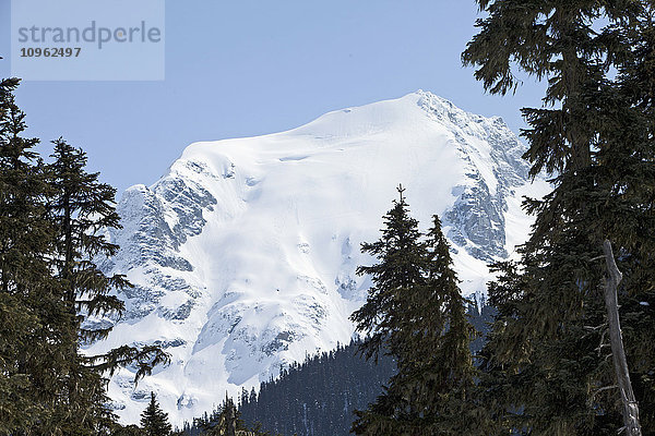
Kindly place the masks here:
<instances>
[{"instance_id":1,"label":"bare grey dead tree trunk leaning among the right-hand evergreens","mask_svg":"<svg viewBox=\"0 0 655 436\"><path fill-rule=\"evenodd\" d=\"M603 243L605 261L607 263L608 277L605 280L605 306L607 307L607 323L609 325L609 340L611 346L611 355L614 360L615 372L617 375L617 385L619 395L623 404L623 431L628 436L642 436L639 424L639 405L632 391L630 383L630 373L628 372L628 361L626 360L626 350L623 349L623 338L621 335L621 323L619 319L618 288L623 275L617 267L611 250L611 242L605 240Z\"/></svg>"}]
</instances>

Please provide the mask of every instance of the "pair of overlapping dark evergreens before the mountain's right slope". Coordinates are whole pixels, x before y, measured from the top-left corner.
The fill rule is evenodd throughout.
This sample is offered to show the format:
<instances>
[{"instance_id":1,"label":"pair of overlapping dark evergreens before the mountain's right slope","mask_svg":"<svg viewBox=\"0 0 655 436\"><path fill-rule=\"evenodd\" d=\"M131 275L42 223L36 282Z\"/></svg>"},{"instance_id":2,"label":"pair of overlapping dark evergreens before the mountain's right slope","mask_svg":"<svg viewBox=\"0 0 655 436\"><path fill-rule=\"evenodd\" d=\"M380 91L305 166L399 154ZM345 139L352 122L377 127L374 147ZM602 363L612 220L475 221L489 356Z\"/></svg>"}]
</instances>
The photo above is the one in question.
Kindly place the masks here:
<instances>
[{"instance_id":1,"label":"pair of overlapping dark evergreens before the mountain's right slope","mask_svg":"<svg viewBox=\"0 0 655 436\"><path fill-rule=\"evenodd\" d=\"M397 374L368 410L356 412L353 431L360 435L473 435L475 428L465 419L474 413L473 327L448 242L437 216L427 242L420 240L418 223L409 217L403 191L398 191L401 201L386 216L382 239L362 244L380 263L359 269L371 274L374 286L365 306L353 315L358 329L377 334L396 359ZM368 355L373 355L370 340L366 346Z\"/></svg>"}]
</instances>

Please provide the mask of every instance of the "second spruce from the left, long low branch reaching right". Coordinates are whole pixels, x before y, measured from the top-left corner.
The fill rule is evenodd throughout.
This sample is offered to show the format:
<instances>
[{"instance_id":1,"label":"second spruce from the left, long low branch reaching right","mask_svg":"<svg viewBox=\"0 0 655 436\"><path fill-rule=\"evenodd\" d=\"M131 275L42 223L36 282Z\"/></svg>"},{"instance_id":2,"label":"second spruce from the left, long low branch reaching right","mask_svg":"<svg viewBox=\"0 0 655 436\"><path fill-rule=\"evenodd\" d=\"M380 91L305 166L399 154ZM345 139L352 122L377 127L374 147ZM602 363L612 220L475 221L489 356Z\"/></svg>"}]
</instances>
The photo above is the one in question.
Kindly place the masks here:
<instances>
[{"instance_id":1,"label":"second spruce from the left, long low branch reaching right","mask_svg":"<svg viewBox=\"0 0 655 436\"><path fill-rule=\"evenodd\" d=\"M120 314L123 303L110 292L129 287L120 275L106 276L95 264L98 256L114 255L118 246L106 240L105 230L119 228L114 206L115 189L98 182L98 173L86 172L86 155L63 140L53 142L53 162L48 166L51 189L48 218L55 230L52 270L59 287L59 301L67 317L57 323L66 336L66 362L58 364L62 377L63 413L57 416L67 433L90 434L106 428L112 414L105 404L105 372L136 361L136 377L167 362L156 347L142 350L122 347L104 355L83 356L80 344L104 339L111 328L88 330L82 324L88 316ZM68 348L67 348L68 347Z\"/></svg>"}]
</instances>

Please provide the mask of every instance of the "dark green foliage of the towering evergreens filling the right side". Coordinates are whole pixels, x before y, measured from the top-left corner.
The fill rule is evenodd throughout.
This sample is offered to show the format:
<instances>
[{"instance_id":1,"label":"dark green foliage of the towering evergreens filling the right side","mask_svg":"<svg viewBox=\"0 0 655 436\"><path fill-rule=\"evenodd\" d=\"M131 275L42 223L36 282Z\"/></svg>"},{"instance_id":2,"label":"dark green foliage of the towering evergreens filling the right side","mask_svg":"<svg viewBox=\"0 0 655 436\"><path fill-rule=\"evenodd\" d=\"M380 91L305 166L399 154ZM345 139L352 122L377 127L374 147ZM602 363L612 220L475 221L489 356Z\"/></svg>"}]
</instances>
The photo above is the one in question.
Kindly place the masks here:
<instances>
[{"instance_id":1,"label":"dark green foliage of the towering evergreens filling the right side","mask_svg":"<svg viewBox=\"0 0 655 436\"><path fill-rule=\"evenodd\" d=\"M619 252L623 339L644 434L652 434L655 366L655 147L647 1L478 1L489 16L463 55L491 93L513 88L515 64L547 77L539 109L524 109L532 174L553 191L527 201L536 216L521 265L489 289L498 310L483 352L488 431L616 434L622 426L608 359L603 241ZM618 74L614 76L611 68ZM641 303L646 304L641 304ZM646 327L648 326L648 327ZM651 330L646 330L651 328ZM646 424L648 423L648 424Z\"/></svg>"}]
</instances>

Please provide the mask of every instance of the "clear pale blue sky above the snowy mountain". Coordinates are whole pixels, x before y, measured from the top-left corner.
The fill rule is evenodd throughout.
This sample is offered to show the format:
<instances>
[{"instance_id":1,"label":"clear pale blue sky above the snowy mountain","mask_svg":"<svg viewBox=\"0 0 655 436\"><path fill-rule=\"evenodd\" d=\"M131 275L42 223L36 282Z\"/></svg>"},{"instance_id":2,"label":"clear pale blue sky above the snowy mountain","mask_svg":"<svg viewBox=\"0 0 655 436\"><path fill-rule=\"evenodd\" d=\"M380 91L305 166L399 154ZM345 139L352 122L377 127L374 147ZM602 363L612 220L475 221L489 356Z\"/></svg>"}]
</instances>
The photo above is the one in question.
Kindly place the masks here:
<instances>
[{"instance_id":1,"label":"clear pale blue sky above the snowy mountain","mask_svg":"<svg viewBox=\"0 0 655 436\"><path fill-rule=\"evenodd\" d=\"M519 132L519 109L538 106L543 85L485 95L460 61L478 16L473 0L168 0L165 81L23 82L17 101L29 135L83 147L119 192L155 182L190 143L284 131L419 88ZM9 24L0 0L2 77Z\"/></svg>"}]
</instances>

